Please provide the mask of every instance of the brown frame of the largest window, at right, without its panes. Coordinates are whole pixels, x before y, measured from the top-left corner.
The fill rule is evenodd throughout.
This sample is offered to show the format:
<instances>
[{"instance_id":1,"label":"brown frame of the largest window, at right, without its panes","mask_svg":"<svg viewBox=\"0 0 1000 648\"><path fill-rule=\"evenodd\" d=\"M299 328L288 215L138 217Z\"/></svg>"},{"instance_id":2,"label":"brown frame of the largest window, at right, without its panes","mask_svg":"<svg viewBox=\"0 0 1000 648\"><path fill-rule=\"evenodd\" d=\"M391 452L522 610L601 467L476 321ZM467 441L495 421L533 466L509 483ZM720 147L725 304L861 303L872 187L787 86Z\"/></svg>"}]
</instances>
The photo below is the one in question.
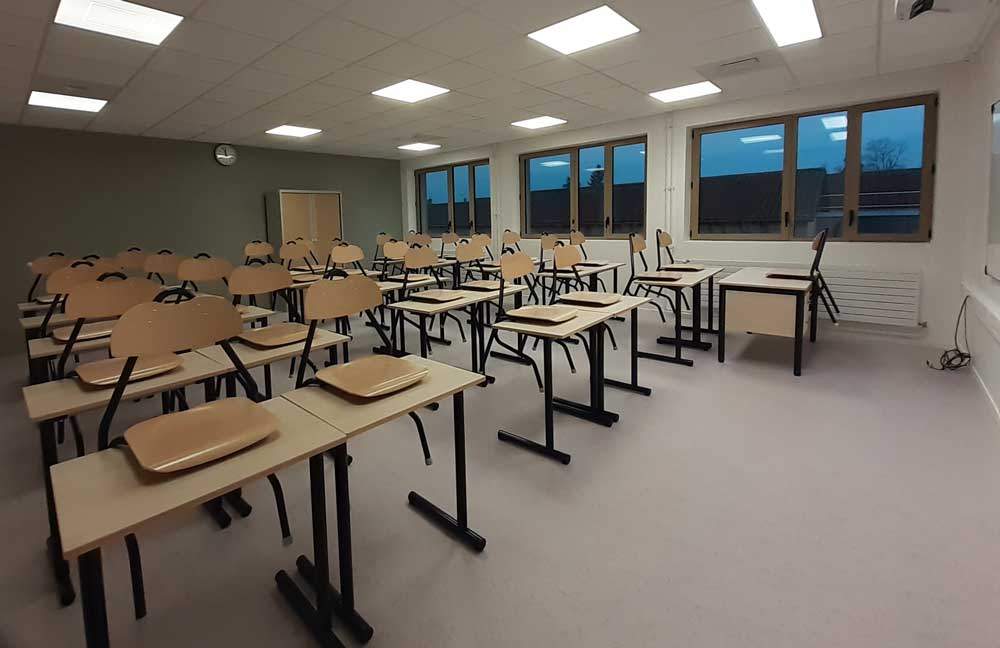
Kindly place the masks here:
<instances>
[{"instance_id":1,"label":"brown frame of the largest window, at right, without its panes","mask_svg":"<svg viewBox=\"0 0 1000 648\"><path fill-rule=\"evenodd\" d=\"M912 234L860 234L858 232L858 207L861 188L861 123L865 113L910 106L924 107L923 157L920 175L920 224ZM833 112L847 113L847 149L844 168L844 213L841 218L843 235L831 241L852 242L908 242L924 243L931 240L934 217L934 179L937 175L937 127L939 98L936 93L885 99L807 110L802 112L765 117L724 124L714 124L691 129L691 157L688 172L688 202L690 205L688 236L697 241L808 241L796 238L795 183L798 169L798 123L802 117L814 117ZM702 234L699 231L699 192L701 185L701 136L710 133L741 130L758 126L783 124L785 127L785 160L782 167L781 228L776 234Z\"/></svg>"}]
</instances>

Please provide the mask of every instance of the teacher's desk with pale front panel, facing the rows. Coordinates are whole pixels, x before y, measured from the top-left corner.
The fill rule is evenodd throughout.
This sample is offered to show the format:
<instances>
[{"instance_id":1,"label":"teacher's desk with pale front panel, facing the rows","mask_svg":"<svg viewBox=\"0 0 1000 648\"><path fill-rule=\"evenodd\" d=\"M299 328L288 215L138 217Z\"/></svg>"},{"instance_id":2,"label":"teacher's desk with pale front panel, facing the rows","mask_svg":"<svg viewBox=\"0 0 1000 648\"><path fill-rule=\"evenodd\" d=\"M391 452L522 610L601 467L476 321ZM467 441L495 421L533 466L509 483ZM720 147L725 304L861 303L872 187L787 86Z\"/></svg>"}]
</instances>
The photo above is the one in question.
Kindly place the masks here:
<instances>
[{"instance_id":1,"label":"teacher's desk with pale front panel, facing the rows","mask_svg":"<svg viewBox=\"0 0 1000 648\"><path fill-rule=\"evenodd\" d=\"M774 279L788 269L744 268L719 282L719 362L726 360L726 329L795 340L792 370L802 375L802 338L809 317L809 341L816 341L818 291L811 280ZM806 300L809 300L808 315Z\"/></svg>"}]
</instances>

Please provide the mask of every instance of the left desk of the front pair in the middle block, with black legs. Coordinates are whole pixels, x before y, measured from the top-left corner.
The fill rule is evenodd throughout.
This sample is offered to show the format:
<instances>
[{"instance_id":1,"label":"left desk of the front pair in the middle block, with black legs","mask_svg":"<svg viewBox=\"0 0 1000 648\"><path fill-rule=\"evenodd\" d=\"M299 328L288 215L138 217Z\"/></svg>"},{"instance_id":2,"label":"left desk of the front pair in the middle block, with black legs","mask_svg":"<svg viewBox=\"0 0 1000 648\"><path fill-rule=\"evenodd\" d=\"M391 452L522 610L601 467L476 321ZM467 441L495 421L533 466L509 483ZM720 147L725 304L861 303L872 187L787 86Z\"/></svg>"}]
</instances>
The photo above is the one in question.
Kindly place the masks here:
<instances>
[{"instance_id":1,"label":"left desk of the front pair in the middle block, with black legs","mask_svg":"<svg viewBox=\"0 0 1000 648\"><path fill-rule=\"evenodd\" d=\"M569 306L564 306L569 308ZM573 308L576 308L575 306ZM612 426L618 421L618 414L609 412L604 407L604 323L613 315L577 309L573 319L562 324L540 324L525 320L503 320L495 322L493 328L498 331L510 331L528 337L542 340L543 386L545 396L545 444L531 439L511 434L505 430L497 431L497 438L507 443L520 446L562 464L570 462L570 455L555 447L555 417L554 411L576 416L599 425ZM578 333L586 331L589 336L587 348L590 356L590 403L583 404L565 398L556 398L552 394L552 343L555 340L565 340Z\"/></svg>"}]
</instances>

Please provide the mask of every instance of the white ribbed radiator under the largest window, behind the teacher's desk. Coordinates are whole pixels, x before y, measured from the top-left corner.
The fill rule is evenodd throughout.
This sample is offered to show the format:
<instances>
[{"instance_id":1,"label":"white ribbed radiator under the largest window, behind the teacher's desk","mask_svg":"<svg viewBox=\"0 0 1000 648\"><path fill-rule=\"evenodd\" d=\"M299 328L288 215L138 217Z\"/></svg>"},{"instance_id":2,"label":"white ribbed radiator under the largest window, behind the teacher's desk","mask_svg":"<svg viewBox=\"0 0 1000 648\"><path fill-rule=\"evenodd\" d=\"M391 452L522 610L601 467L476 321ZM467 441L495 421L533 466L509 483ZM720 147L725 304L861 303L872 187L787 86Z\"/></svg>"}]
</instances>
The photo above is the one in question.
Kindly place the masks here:
<instances>
[{"instance_id":1,"label":"white ribbed radiator under the largest window, behind the teacher's desk","mask_svg":"<svg viewBox=\"0 0 1000 648\"><path fill-rule=\"evenodd\" d=\"M716 275L716 281L741 268L765 266L768 268L789 268L808 270L801 265L788 263L755 263L749 261L702 261L708 266L725 266ZM916 327L920 325L920 273L891 272L886 270L865 270L823 266L823 277L830 285L840 315L837 319L845 322L865 322L886 326ZM702 291L702 301L708 299L708 291ZM715 305L719 295L716 291ZM704 312L704 311L702 311ZM823 303L819 304L821 319L829 319Z\"/></svg>"}]
</instances>

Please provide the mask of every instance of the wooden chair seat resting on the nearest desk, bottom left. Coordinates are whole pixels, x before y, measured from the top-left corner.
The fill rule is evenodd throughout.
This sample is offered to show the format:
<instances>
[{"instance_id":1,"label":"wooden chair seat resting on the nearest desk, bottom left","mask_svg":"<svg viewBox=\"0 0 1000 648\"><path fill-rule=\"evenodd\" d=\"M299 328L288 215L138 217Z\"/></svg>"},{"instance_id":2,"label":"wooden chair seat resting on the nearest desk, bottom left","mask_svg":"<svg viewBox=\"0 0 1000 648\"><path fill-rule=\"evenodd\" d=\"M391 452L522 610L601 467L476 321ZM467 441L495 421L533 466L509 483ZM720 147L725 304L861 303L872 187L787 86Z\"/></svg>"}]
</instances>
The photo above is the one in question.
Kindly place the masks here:
<instances>
[{"instance_id":1,"label":"wooden chair seat resting on the nearest desk, bottom left","mask_svg":"<svg viewBox=\"0 0 1000 648\"><path fill-rule=\"evenodd\" d=\"M227 398L133 425L125 432L139 465L158 473L193 468L266 439L278 419L247 398Z\"/></svg>"}]
</instances>

